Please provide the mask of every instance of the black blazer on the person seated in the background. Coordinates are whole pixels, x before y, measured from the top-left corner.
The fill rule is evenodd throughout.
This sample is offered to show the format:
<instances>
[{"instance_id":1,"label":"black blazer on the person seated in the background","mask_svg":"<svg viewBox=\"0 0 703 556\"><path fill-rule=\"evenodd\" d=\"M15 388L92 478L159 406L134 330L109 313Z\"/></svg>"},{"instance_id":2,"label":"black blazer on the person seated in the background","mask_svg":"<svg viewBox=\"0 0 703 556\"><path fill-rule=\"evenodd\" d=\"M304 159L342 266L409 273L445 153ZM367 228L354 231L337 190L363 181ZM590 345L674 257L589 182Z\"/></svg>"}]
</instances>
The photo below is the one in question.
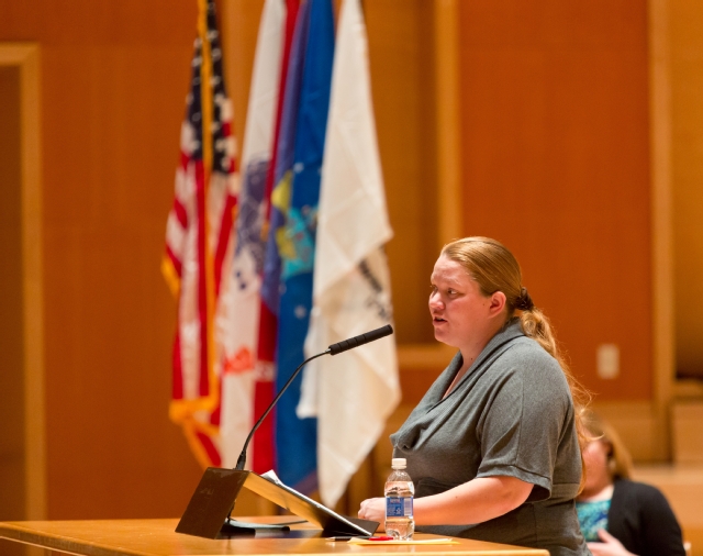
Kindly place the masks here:
<instances>
[{"instance_id":1,"label":"black blazer on the person seated in the background","mask_svg":"<svg viewBox=\"0 0 703 556\"><path fill-rule=\"evenodd\" d=\"M650 485L615 481L607 531L638 556L685 556L679 522L661 491Z\"/></svg>"}]
</instances>

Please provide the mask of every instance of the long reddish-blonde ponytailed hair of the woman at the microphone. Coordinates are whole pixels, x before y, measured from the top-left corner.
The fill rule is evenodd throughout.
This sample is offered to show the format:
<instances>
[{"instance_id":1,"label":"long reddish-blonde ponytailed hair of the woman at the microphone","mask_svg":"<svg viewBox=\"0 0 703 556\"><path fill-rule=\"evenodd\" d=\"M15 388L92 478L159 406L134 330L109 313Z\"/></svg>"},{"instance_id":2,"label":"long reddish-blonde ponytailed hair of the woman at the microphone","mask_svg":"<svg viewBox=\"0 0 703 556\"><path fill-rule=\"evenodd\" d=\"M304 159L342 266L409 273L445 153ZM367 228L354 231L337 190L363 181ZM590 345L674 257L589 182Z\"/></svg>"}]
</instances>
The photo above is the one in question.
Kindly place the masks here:
<instances>
[{"instance_id":1,"label":"long reddish-blonde ponytailed hair of the woman at the microphone","mask_svg":"<svg viewBox=\"0 0 703 556\"><path fill-rule=\"evenodd\" d=\"M479 236L448 243L443 247L442 255L459 263L476 280L483 296L502 291L506 299L507 318L512 318L516 310L521 311L520 322L525 335L535 340L557 360L569 383L576 429L581 452L583 452L585 444L591 440L583 423L583 414L591 401L591 394L571 374L569 364L559 349L549 319L535 307L527 289L523 287L517 259L500 242ZM581 467L584 469L583 457L581 457ZM581 485L583 485L585 474L581 475Z\"/></svg>"}]
</instances>

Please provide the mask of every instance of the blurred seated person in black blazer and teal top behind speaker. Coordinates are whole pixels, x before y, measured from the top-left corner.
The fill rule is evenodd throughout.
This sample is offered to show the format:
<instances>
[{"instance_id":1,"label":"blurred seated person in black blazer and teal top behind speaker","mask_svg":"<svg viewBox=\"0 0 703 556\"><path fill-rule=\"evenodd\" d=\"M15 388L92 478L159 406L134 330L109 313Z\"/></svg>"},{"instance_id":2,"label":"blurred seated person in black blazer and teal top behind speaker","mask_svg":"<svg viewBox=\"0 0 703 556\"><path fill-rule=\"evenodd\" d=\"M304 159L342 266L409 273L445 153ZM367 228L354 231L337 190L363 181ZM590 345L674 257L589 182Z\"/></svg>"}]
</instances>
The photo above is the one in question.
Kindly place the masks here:
<instances>
[{"instance_id":1,"label":"blurred seated person in black blazer and teal top behind speaker","mask_svg":"<svg viewBox=\"0 0 703 556\"><path fill-rule=\"evenodd\" d=\"M589 413L585 483L577 498L581 532L594 556L684 556L681 527L663 494L629 480L632 459L617 433Z\"/></svg>"}]
</instances>

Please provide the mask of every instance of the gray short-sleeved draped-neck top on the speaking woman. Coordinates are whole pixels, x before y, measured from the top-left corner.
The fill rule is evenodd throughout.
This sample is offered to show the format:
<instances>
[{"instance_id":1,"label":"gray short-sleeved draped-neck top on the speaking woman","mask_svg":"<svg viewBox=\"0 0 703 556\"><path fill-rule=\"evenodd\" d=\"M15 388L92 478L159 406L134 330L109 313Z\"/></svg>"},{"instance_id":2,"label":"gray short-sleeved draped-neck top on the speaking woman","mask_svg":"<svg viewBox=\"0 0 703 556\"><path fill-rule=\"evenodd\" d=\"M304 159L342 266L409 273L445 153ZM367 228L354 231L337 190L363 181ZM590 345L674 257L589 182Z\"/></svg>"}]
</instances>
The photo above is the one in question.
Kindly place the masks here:
<instances>
[{"instance_id":1,"label":"gray short-sleeved draped-neck top on the speaking woman","mask_svg":"<svg viewBox=\"0 0 703 556\"><path fill-rule=\"evenodd\" d=\"M500 518L417 529L547 548L553 556L590 554L573 502L581 480L573 403L558 363L513 319L443 399L461 364L459 353L391 435L415 496L476 477L516 477L534 487L524 504Z\"/></svg>"}]
</instances>

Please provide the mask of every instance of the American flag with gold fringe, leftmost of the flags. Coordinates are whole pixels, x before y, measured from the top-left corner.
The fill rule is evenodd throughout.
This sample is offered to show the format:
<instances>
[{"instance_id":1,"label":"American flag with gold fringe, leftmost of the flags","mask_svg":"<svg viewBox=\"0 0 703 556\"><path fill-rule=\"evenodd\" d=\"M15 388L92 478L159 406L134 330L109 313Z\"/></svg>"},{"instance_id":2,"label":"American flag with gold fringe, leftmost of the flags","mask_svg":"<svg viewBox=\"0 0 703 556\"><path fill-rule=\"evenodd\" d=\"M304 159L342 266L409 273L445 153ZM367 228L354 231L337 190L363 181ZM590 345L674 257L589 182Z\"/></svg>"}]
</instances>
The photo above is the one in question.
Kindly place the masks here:
<instances>
[{"instance_id":1,"label":"American flag with gold fringe, leftmost of the flags","mask_svg":"<svg viewBox=\"0 0 703 556\"><path fill-rule=\"evenodd\" d=\"M227 287L222 277L232 260L238 185L213 0L200 1L198 31L161 268L178 298L169 414L207 467L221 464L221 346L226 330L216 323Z\"/></svg>"}]
</instances>

